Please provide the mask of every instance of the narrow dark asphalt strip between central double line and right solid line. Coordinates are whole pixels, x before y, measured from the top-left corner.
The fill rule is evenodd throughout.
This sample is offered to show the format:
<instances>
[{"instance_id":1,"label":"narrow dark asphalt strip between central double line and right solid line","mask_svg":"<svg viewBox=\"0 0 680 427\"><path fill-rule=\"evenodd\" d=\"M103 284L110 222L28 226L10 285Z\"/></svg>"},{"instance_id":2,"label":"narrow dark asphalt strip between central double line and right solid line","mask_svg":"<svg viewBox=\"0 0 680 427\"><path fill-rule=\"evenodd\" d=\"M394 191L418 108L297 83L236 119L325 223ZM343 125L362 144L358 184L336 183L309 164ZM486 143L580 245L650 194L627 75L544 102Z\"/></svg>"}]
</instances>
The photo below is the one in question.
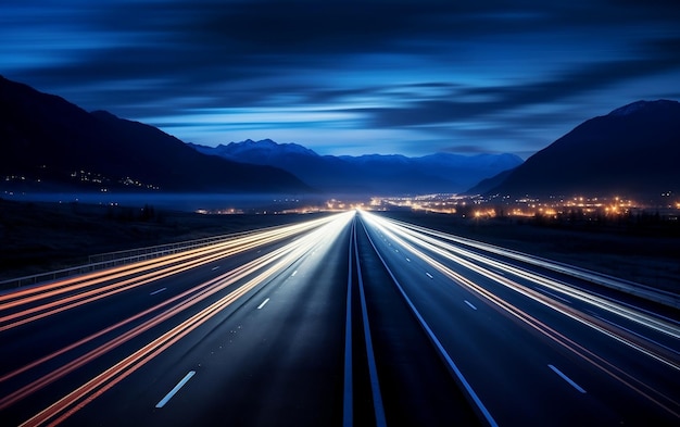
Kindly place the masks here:
<instances>
[{"instance_id":1,"label":"narrow dark asphalt strip between central double line and right solid line","mask_svg":"<svg viewBox=\"0 0 680 427\"><path fill-rule=\"evenodd\" d=\"M357 246L388 425L478 425L479 419L377 256Z\"/></svg>"}]
</instances>

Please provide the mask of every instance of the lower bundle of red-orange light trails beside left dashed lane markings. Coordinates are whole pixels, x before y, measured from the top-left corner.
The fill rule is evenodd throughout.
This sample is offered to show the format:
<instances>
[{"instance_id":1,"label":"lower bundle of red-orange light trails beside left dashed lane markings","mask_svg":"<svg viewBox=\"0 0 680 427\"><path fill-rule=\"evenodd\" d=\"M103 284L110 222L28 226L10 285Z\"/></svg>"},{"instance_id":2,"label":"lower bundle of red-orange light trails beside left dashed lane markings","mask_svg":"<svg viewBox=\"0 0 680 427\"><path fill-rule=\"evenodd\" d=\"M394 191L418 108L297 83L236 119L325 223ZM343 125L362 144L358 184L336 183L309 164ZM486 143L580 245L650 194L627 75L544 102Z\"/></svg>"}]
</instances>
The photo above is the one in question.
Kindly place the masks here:
<instances>
[{"instance_id":1,"label":"lower bundle of red-orange light trails beside left dashed lane markings","mask_svg":"<svg viewBox=\"0 0 680 427\"><path fill-rule=\"evenodd\" d=\"M152 327L159 326L172 318L177 317L187 309L205 301L207 298L216 294L226 287L235 285L240 280L247 279L250 276L256 275L256 277L250 279L244 285L241 285L235 291L219 299L217 302L210 304L199 314L193 315L189 319L181 322L179 325L175 326L169 331L162 335L160 338L152 341L150 344L146 346L137 353L122 361L121 364L116 365L118 367L114 366L111 369L105 371L102 375L98 376L87 385L79 388L78 390L80 391L76 390L74 391L75 394L70 394L71 398L66 397L64 398L64 400L60 401L61 403L58 402L55 403L55 405L47 409L46 412L42 413L42 416L45 416L45 414L49 414L47 418L42 418L42 416L38 415L37 418L32 418L33 420L29 420L28 425L33 425L34 422L41 424L47 419L52 419L55 417L56 413L62 414L62 417L67 417L73 412L83 407L87 402L91 401L95 397L101 394L110 387L113 387L113 385L117 384L122 378L131 374L143 363L147 363L149 360L151 360L154 355L159 354L164 349L172 346L172 343L176 342L179 338L185 337L191 330L194 330L196 328L207 322L214 315L218 314L222 310L226 309L229 304L234 303L259 285L264 284L267 280L270 280L276 275L280 274L301 256L307 255L315 247L320 244L320 242L327 239L335 239L335 236L339 234L343 227L347 226L349 219L350 214L340 214L324 221L324 224L320 224L320 226L318 225L318 223L316 223L316 226L311 227L312 229L307 230L307 233L305 233L303 236L277 250L265 253L264 255L247 264L243 264L230 272L227 272L215 279L205 281L174 298L155 304L154 306L144 310L127 319L111 325L108 328L104 328L89 337L74 342L73 344L66 346L65 348L52 354L28 363L22 368L5 374L0 378L0 382L16 377L20 374L35 368L36 366L43 364L50 360L53 360L58 355L64 354L65 352L71 351L79 346L90 342L96 338L102 337L105 334L111 334L116 329L119 329L123 326L133 323L134 321L138 321L144 316L148 316L149 314L159 312L152 318L147 319L142 324L129 330L123 331L117 337L110 339L106 343L98 347L97 349L88 351L86 354L83 354L81 356L71 361L70 363L60 366L59 368L42 376L41 378L25 385L24 387L15 390L12 393L9 393L8 395L2 397L2 399L0 399L0 410L16 403L22 399L25 399L37 390L64 377L65 375L84 366L85 364L92 362L93 360L100 357L101 355L113 350L114 348L117 348L121 344L131 340L133 338L138 337L140 334L151 329ZM63 418L58 418L53 420L53 423L58 424L62 419Z\"/></svg>"}]
</instances>

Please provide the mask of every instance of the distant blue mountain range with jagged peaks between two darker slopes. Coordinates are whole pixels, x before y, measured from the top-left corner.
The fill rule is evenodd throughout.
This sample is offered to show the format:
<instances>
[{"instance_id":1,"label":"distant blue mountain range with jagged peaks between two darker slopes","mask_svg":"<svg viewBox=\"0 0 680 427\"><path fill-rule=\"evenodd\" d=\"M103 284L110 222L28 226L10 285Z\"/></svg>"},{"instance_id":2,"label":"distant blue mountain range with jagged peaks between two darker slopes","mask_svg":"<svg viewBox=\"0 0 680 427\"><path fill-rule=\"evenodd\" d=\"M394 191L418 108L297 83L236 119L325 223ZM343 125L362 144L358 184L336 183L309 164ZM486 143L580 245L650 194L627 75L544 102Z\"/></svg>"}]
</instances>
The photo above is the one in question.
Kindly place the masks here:
<instances>
[{"instance_id":1,"label":"distant blue mountain range with jagged peaks between two darker slopes","mask_svg":"<svg viewBox=\"0 0 680 427\"><path fill-rule=\"evenodd\" d=\"M337 193L458 192L521 163L513 154L319 155L297 143L277 143L269 139L217 147L190 146L202 153L231 161L277 166L315 188Z\"/></svg>"}]
</instances>

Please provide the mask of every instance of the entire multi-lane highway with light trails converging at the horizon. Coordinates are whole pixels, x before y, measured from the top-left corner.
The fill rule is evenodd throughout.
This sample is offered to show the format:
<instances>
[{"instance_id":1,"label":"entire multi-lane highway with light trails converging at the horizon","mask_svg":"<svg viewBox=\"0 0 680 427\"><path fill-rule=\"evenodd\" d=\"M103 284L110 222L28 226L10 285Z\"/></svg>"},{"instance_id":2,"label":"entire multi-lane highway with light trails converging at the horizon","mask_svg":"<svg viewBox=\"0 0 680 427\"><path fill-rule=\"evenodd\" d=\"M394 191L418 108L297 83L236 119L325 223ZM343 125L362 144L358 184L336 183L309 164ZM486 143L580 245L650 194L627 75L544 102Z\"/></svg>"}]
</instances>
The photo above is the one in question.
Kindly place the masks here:
<instances>
[{"instance_id":1,"label":"entire multi-lane highway with light trails converging at the horizon","mask_svg":"<svg viewBox=\"0 0 680 427\"><path fill-rule=\"evenodd\" d=\"M676 309L351 211L0 294L3 426L680 425Z\"/></svg>"}]
</instances>

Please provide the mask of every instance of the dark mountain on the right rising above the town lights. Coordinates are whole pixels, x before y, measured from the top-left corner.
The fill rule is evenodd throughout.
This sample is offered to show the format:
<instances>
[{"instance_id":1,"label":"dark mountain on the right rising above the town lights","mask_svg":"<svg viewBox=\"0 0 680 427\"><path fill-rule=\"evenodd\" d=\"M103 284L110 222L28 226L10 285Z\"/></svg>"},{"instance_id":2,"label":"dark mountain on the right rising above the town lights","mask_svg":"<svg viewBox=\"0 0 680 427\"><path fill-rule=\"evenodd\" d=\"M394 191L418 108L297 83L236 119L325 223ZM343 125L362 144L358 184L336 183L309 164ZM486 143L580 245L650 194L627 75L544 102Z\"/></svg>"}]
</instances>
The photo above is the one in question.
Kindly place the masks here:
<instances>
[{"instance_id":1,"label":"dark mountain on the right rising above the town lights","mask_svg":"<svg viewBox=\"0 0 680 427\"><path fill-rule=\"evenodd\" d=\"M591 118L499 180L481 192L537 197L679 193L680 102L638 101Z\"/></svg>"}]
</instances>

